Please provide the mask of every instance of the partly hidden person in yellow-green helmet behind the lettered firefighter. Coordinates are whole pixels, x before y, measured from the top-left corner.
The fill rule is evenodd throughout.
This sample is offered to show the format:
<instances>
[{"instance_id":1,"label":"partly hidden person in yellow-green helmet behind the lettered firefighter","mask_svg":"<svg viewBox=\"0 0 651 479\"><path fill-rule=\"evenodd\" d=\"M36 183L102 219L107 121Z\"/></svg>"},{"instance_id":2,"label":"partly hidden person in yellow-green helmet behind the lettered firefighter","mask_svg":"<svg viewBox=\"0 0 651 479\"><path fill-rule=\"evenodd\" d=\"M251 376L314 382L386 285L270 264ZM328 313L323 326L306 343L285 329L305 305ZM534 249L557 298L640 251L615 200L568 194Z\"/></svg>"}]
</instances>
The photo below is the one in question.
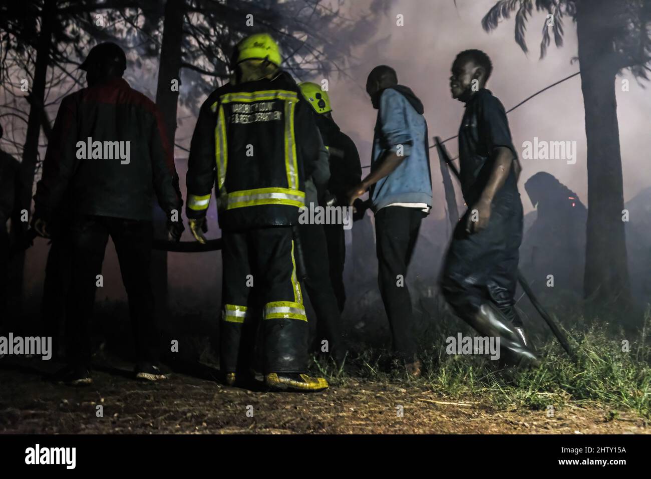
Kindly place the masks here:
<instances>
[{"instance_id":1,"label":"partly hidden person in yellow-green helmet behind the lettered firefighter","mask_svg":"<svg viewBox=\"0 0 651 479\"><path fill-rule=\"evenodd\" d=\"M327 91L320 85L305 81L299 85L303 96L316 111L316 126L319 128L329 152L330 180L324 205L346 207L346 193L361 181L362 167L359 153L352 139L344 134L332 117L332 108ZM339 312L344 311L346 290L344 289L344 262L346 261L346 242L342 224L325 224L327 254L330 280ZM311 298L311 297L310 297Z\"/></svg>"}]
</instances>

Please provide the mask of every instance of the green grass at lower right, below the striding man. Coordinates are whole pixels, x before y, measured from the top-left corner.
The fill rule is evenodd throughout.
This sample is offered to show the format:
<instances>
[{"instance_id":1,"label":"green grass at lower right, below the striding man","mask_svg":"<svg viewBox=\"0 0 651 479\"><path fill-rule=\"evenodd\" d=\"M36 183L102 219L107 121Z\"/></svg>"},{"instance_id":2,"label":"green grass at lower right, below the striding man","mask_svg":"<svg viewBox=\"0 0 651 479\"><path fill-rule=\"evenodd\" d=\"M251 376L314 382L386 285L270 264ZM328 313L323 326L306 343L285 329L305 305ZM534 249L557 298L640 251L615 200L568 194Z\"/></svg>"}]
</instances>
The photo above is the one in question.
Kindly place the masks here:
<instances>
[{"instance_id":1,"label":"green grass at lower right, below the striding man","mask_svg":"<svg viewBox=\"0 0 651 479\"><path fill-rule=\"evenodd\" d=\"M420 353L424 368L419 379L407 377L404 368L378 349L362 349L363 353L340 369L318 358L313 364L314 371L325 375L333 385L345 385L353 377L406 380L447 398L481 398L499 409L542 410L550 405L591 404L611 411L606 420L616 418L619 411L651 418L651 345L645 341L649 325L651 315L647 310L637 338L623 343L623 332L613 332L613 327L605 323L585 325L581 318L568 330L574 338L577 362L568 358L557 341L549 340L536 348L542 366L530 371L497 370L492 361L483 357L447 355L441 338L456 332L445 330L437 330L424 341Z\"/></svg>"}]
</instances>

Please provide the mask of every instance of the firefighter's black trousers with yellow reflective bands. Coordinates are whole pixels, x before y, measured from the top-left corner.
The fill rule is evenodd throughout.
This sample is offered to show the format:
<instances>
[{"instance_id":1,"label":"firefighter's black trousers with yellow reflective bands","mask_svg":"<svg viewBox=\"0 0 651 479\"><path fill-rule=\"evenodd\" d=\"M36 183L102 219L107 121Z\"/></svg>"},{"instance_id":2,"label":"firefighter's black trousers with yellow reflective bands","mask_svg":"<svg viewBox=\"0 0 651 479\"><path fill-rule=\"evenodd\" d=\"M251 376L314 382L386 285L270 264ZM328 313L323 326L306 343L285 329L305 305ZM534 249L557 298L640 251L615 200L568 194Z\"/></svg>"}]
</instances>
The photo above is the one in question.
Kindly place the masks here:
<instances>
[{"instance_id":1,"label":"firefighter's black trousers with yellow reflective bands","mask_svg":"<svg viewBox=\"0 0 651 479\"><path fill-rule=\"evenodd\" d=\"M296 276L291 227L222 231L223 310L220 367L241 371L246 351L243 329L251 318L253 288L264 304L265 373L307 371L307 317Z\"/></svg>"}]
</instances>

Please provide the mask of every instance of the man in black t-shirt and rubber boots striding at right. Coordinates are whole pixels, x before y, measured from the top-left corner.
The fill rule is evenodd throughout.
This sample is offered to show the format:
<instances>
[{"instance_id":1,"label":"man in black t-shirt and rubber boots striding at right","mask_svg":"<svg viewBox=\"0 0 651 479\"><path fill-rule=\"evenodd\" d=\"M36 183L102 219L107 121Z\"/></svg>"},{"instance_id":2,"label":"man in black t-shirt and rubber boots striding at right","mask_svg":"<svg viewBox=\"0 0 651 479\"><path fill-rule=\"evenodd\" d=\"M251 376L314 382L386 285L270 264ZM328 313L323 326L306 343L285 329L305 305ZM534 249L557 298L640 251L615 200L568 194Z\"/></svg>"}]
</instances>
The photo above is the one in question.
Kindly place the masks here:
<instances>
[{"instance_id":1,"label":"man in black t-shirt and rubber boots striding at right","mask_svg":"<svg viewBox=\"0 0 651 479\"><path fill-rule=\"evenodd\" d=\"M468 210L454 230L441 291L484 336L500 338L508 362L537 364L514 307L522 240L520 164L501 102L484 88L488 55L466 50L452 65L452 98L465 103L459 130L460 181Z\"/></svg>"}]
</instances>

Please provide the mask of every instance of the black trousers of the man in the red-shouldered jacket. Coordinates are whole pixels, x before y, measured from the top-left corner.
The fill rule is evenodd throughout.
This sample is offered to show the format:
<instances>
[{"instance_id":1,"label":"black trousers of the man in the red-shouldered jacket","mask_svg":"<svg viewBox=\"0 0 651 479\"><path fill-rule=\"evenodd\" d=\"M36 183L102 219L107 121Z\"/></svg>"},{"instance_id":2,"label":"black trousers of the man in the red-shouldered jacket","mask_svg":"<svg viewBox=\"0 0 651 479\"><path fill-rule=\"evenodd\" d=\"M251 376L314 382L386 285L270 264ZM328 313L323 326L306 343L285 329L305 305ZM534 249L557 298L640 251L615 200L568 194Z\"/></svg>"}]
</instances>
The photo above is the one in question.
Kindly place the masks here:
<instances>
[{"instance_id":1,"label":"black trousers of the man in the red-shouldered jacket","mask_svg":"<svg viewBox=\"0 0 651 479\"><path fill-rule=\"evenodd\" d=\"M109 235L120 262L135 334L136 360L158 360L159 333L154 321L150 279L153 239L151 222L83 216L72 220L64 238L70 245L71 282L67 298L66 351L74 364L90 366L89 322L97 275L102 272Z\"/></svg>"}]
</instances>

